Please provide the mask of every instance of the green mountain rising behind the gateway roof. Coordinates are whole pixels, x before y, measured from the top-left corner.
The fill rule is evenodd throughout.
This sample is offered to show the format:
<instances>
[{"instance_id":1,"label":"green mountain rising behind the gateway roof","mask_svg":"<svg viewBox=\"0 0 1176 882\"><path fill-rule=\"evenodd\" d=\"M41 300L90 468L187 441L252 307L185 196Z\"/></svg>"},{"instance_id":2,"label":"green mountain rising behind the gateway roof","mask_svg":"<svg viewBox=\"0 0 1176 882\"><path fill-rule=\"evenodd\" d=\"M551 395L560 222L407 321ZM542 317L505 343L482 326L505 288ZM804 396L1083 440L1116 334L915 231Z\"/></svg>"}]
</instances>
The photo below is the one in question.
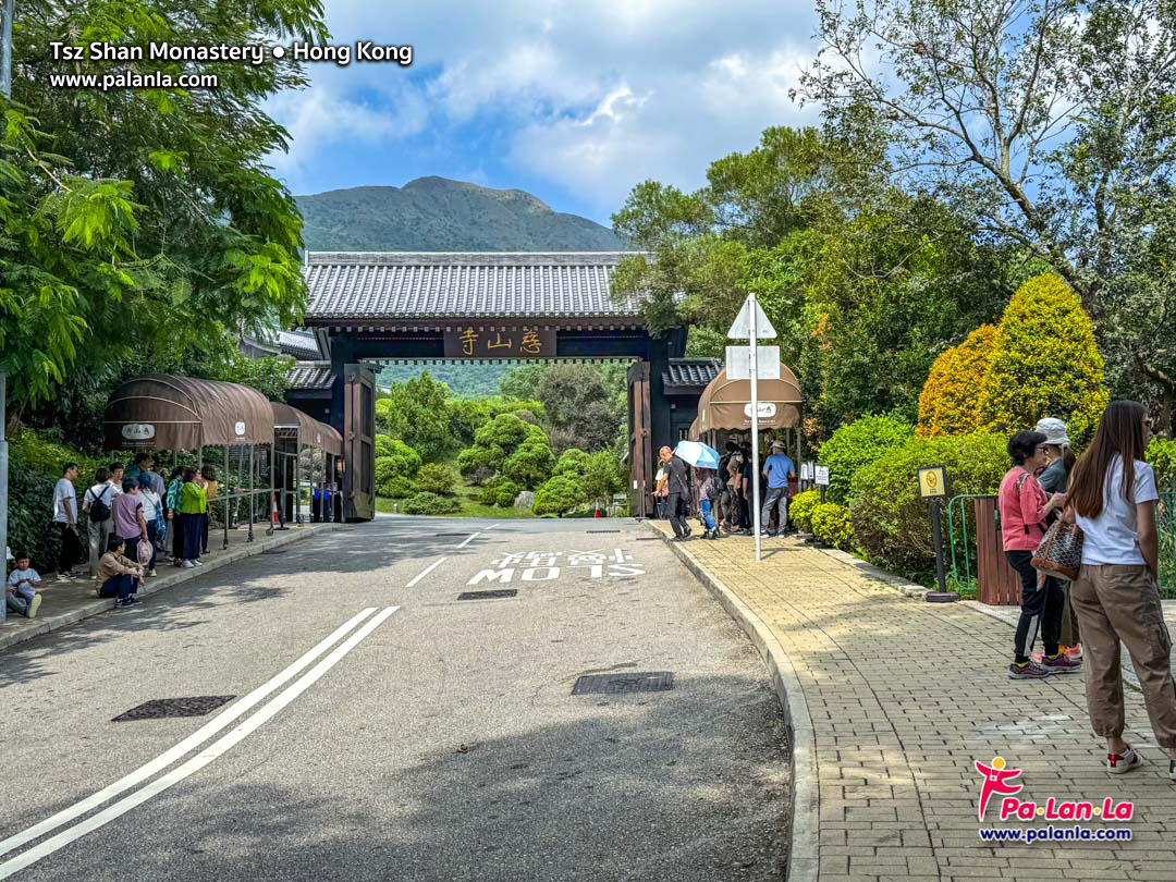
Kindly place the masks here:
<instances>
[{"instance_id":1,"label":"green mountain rising behind the gateway roof","mask_svg":"<svg viewBox=\"0 0 1176 882\"><path fill-rule=\"evenodd\" d=\"M309 250L623 250L608 227L553 212L521 189L445 178L295 196Z\"/></svg>"}]
</instances>

